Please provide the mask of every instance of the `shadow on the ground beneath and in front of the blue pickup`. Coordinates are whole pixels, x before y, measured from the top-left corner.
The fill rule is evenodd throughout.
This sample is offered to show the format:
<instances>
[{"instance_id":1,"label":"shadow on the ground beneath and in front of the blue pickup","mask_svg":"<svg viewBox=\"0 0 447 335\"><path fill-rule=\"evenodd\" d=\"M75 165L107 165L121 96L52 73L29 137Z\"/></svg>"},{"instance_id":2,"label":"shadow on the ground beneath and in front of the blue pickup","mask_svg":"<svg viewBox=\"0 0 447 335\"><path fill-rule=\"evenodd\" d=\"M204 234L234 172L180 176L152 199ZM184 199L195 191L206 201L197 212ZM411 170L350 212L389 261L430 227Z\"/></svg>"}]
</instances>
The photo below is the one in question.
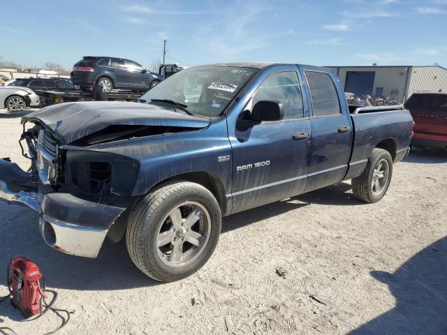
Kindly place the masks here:
<instances>
[{"instance_id":1,"label":"shadow on the ground beneath and in front of the blue pickup","mask_svg":"<svg viewBox=\"0 0 447 335\"><path fill-rule=\"evenodd\" d=\"M222 233L284 214L312 203L358 204L344 193L351 186L339 183L288 200L266 204L223 218ZM38 230L38 214L26 207L0 202L0 269L15 255L24 255L39 265L50 288L68 290L119 290L160 285L133 265L125 241L105 241L98 258L60 253L45 244ZM3 292L0 282L0 295Z\"/></svg>"}]
</instances>

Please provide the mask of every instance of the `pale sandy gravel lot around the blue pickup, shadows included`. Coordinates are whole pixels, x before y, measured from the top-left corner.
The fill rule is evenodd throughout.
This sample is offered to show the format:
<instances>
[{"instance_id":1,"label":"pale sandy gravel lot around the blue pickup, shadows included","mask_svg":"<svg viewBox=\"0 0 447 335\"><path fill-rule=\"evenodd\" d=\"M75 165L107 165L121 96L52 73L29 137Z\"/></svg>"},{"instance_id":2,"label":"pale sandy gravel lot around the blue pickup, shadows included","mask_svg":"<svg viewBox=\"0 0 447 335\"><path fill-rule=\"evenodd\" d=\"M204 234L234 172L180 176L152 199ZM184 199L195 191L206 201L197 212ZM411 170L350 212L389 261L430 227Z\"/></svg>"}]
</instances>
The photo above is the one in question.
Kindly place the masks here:
<instances>
[{"instance_id":1,"label":"pale sandy gravel lot around the blue pickup, shadows included","mask_svg":"<svg viewBox=\"0 0 447 335\"><path fill-rule=\"evenodd\" d=\"M25 167L20 133L20 115L0 110L0 157ZM73 312L61 334L447 334L446 170L447 153L413 151L376 204L344 182L228 216L210 262L169 284L140 273L124 243L96 260L54 251L37 213L0 203L0 273L17 254L37 262ZM18 334L60 322L21 321L0 304L0 327Z\"/></svg>"}]
</instances>

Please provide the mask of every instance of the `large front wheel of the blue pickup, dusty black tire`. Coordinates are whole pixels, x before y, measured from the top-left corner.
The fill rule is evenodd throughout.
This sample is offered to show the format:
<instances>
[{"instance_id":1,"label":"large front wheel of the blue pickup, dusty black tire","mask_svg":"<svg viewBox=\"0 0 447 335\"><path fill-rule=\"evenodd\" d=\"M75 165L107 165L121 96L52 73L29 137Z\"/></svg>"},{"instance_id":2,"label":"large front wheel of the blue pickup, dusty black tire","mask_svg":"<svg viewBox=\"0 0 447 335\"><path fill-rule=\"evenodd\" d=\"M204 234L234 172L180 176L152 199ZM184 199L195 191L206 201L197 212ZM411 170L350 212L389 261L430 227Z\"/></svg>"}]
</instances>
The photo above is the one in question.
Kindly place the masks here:
<instances>
[{"instance_id":1,"label":"large front wheel of the blue pickup, dusty black tire","mask_svg":"<svg viewBox=\"0 0 447 335\"><path fill-rule=\"evenodd\" d=\"M185 207L179 207L182 208L182 220L185 220L184 217L188 217L185 210L188 209L190 204L200 204L205 213L202 215L202 212L195 211L200 216L199 221L197 221L200 227L206 226L205 221L209 222L206 240L205 232L200 235L202 246L195 247L191 244L191 248L187 249L189 242L183 241L187 237L177 237L179 232L175 230L183 228L174 228L174 219L170 214L182 204L185 204ZM182 226L184 223L186 225L186 222L182 221ZM167 224L171 227L168 232L175 234L176 237L174 241L159 246L157 245L157 241L159 241L157 238L163 232L166 233L166 231L162 232L161 230ZM191 230L193 230L193 227L195 225L191 227ZM126 245L131 260L144 274L156 281L178 281L205 265L217 246L220 232L221 211L212 193L199 184L189 181L172 181L139 200L129 216L126 229ZM181 259L191 256L189 263L184 265L174 264L175 261L172 258L174 257L175 243L178 243L178 241L175 242L175 239L182 239ZM161 241L159 243L161 244ZM186 252L184 251L185 247ZM163 253L162 248L166 248L166 253ZM172 251L169 251L169 248L172 248Z\"/></svg>"}]
</instances>

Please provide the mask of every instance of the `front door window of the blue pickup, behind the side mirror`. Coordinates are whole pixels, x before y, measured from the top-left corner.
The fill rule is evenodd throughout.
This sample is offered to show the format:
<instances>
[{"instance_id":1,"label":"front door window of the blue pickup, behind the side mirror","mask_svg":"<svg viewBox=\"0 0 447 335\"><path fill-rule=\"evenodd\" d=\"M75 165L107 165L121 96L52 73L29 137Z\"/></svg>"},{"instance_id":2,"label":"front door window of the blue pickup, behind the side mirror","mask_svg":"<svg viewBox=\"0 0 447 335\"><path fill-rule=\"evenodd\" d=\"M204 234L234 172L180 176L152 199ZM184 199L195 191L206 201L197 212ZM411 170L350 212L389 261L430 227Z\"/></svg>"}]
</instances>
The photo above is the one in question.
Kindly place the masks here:
<instances>
[{"instance_id":1,"label":"front door window of the blue pickup, behind the side mirror","mask_svg":"<svg viewBox=\"0 0 447 335\"><path fill-rule=\"evenodd\" d=\"M268 76L254 94L253 105L263 100L277 100L283 103L284 120L304 117L300 81L295 71Z\"/></svg>"}]
</instances>

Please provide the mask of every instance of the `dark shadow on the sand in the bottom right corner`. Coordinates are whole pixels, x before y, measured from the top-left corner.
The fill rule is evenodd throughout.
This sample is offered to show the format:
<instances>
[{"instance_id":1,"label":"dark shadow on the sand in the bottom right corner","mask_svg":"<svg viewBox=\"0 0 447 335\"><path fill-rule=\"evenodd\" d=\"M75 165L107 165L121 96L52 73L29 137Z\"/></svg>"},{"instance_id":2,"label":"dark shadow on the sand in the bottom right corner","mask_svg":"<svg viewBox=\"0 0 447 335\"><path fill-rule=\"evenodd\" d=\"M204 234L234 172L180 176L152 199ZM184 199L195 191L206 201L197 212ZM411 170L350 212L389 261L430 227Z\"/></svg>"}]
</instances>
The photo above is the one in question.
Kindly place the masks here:
<instances>
[{"instance_id":1,"label":"dark shadow on the sand in the bottom right corner","mask_svg":"<svg viewBox=\"0 0 447 335\"><path fill-rule=\"evenodd\" d=\"M370 274L388 285L396 305L351 335L446 334L447 237L413 255L393 274Z\"/></svg>"}]
</instances>

